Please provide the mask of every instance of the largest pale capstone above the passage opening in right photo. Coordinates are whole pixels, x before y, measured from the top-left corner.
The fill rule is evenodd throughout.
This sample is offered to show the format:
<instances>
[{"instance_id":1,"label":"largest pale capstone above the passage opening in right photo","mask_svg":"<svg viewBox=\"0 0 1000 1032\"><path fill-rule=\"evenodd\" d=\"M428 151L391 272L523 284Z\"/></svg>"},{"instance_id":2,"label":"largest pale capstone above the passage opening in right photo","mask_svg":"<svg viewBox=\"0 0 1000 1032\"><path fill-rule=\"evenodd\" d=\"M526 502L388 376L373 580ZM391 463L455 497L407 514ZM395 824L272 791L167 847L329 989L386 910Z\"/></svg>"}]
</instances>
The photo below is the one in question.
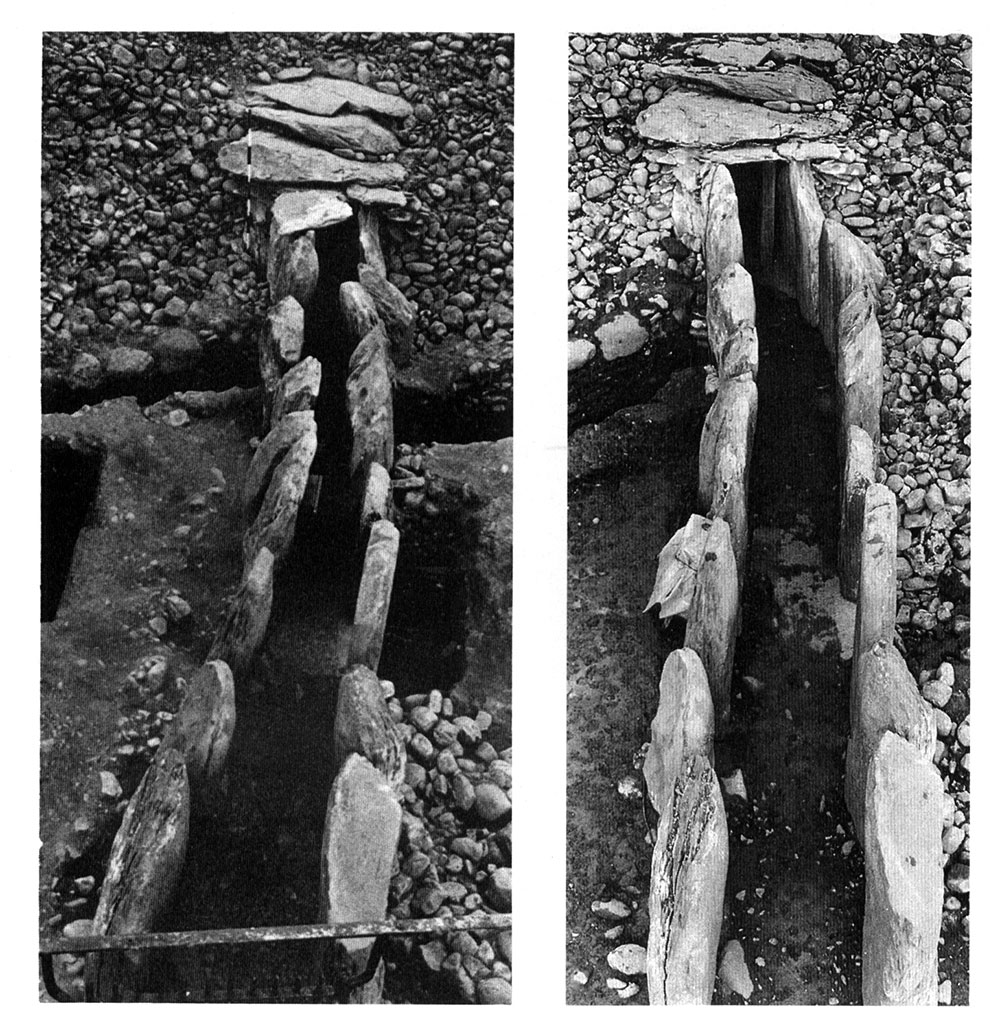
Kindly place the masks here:
<instances>
[{"instance_id":1,"label":"largest pale capstone above the passage opening in right photo","mask_svg":"<svg viewBox=\"0 0 1000 1032\"><path fill-rule=\"evenodd\" d=\"M647 139L700 148L789 136L821 139L849 128L849 120L839 111L782 114L746 101L684 89L672 90L663 100L640 111L636 121L636 131ZM255 141L255 155L256 148Z\"/></svg>"}]
</instances>

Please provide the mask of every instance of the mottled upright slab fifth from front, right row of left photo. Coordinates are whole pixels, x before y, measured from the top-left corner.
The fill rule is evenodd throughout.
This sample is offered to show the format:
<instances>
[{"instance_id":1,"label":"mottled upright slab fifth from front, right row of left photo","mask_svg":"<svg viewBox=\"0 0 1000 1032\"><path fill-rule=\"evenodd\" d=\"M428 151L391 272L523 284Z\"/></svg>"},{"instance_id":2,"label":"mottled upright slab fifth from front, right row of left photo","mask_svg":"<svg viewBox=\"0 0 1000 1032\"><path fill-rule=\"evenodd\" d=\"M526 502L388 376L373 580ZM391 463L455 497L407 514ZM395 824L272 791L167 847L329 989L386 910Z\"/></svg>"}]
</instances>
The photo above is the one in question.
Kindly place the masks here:
<instances>
[{"instance_id":1,"label":"mottled upright slab fifth from front, right row of left photo","mask_svg":"<svg viewBox=\"0 0 1000 1032\"><path fill-rule=\"evenodd\" d=\"M351 476L366 477L367 467L393 461L392 385L388 370L389 342L380 323L354 349L348 368L348 417L353 441Z\"/></svg>"}]
</instances>

